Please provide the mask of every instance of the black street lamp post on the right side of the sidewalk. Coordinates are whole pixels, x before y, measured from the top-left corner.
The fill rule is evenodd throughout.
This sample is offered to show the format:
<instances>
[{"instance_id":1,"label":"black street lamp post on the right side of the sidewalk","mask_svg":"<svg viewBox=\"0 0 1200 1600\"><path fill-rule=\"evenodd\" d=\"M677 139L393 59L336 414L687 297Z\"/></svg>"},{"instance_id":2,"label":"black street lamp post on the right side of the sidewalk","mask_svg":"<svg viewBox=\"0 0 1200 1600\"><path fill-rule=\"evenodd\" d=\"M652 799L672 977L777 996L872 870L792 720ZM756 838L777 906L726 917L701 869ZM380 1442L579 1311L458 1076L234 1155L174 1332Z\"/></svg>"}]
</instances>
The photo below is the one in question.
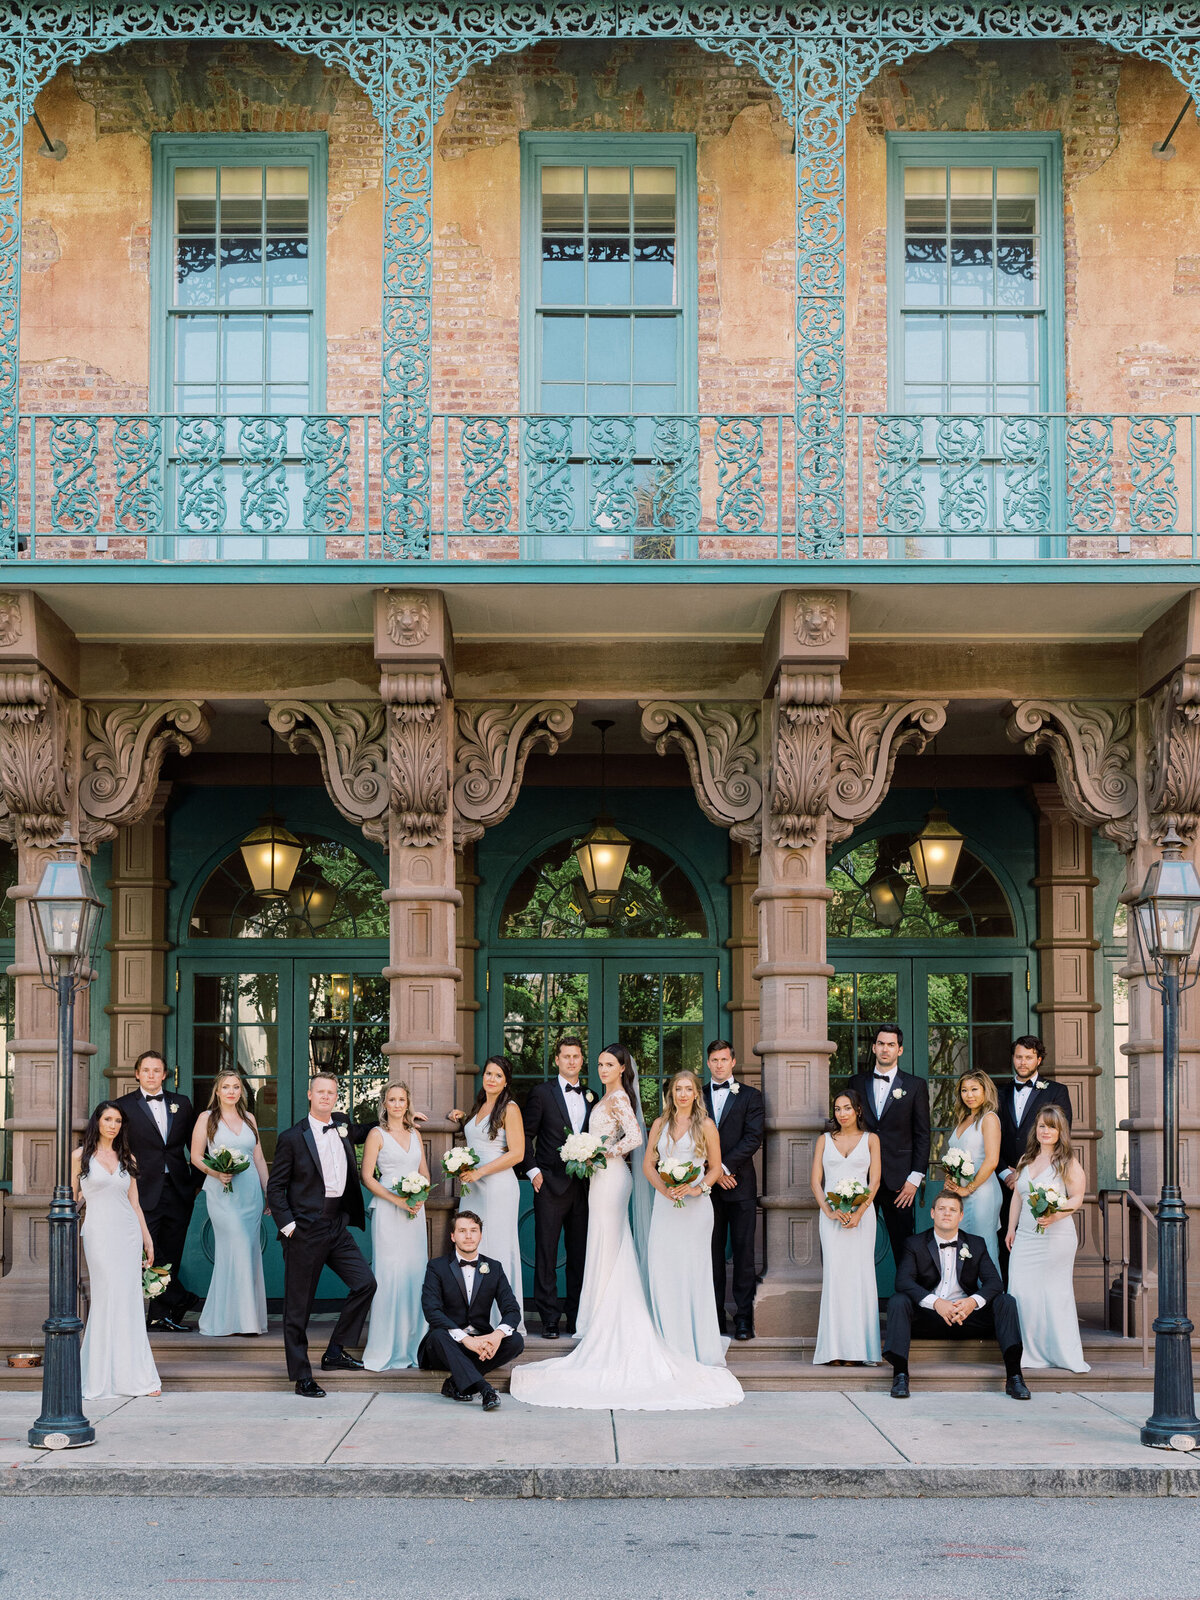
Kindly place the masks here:
<instances>
[{"instance_id":1,"label":"black street lamp post on the right side of the sidewalk","mask_svg":"<svg viewBox=\"0 0 1200 1600\"><path fill-rule=\"evenodd\" d=\"M1200 877L1184 858L1174 829L1163 859L1133 902L1138 944L1149 982L1163 997L1163 1186L1158 1198L1158 1315L1154 1320L1154 1414L1142 1445L1194 1450L1200 1445L1192 1384L1192 1323L1187 1317L1187 1211L1179 1190L1179 994L1195 982L1189 963L1200 933Z\"/></svg>"}]
</instances>

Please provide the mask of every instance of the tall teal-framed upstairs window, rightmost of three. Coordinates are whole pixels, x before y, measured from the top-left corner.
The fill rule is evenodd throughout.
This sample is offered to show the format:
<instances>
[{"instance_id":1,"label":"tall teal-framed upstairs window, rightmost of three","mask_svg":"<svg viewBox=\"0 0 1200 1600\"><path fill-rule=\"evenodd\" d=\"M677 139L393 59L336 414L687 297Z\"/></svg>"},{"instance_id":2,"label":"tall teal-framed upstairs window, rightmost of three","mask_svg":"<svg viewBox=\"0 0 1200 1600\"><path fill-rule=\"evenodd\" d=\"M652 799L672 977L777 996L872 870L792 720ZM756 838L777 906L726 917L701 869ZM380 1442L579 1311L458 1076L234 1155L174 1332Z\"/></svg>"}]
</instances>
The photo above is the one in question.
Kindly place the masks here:
<instances>
[{"instance_id":1,"label":"tall teal-framed upstairs window, rightmost of three","mask_svg":"<svg viewBox=\"0 0 1200 1600\"><path fill-rule=\"evenodd\" d=\"M1051 434L1016 419L1064 405L1058 136L898 134L888 157L890 410L938 421L880 448L883 522L906 554L1037 555Z\"/></svg>"}]
</instances>

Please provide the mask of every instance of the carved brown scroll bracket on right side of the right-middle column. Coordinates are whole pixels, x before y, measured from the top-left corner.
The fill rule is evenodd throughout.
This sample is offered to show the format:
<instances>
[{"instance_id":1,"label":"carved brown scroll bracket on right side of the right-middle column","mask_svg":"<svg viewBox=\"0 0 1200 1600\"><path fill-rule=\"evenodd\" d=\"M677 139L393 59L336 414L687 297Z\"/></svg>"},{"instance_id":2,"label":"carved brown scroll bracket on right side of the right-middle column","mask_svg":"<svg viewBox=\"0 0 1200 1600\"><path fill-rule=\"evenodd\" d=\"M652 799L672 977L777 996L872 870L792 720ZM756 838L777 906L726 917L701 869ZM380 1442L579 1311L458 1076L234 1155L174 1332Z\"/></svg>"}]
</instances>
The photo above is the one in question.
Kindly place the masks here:
<instances>
[{"instance_id":1,"label":"carved brown scroll bracket on right side of the right-middle column","mask_svg":"<svg viewBox=\"0 0 1200 1600\"><path fill-rule=\"evenodd\" d=\"M920 752L946 726L946 701L870 701L834 707L826 843L837 845L866 822L891 787L896 757Z\"/></svg>"}]
</instances>

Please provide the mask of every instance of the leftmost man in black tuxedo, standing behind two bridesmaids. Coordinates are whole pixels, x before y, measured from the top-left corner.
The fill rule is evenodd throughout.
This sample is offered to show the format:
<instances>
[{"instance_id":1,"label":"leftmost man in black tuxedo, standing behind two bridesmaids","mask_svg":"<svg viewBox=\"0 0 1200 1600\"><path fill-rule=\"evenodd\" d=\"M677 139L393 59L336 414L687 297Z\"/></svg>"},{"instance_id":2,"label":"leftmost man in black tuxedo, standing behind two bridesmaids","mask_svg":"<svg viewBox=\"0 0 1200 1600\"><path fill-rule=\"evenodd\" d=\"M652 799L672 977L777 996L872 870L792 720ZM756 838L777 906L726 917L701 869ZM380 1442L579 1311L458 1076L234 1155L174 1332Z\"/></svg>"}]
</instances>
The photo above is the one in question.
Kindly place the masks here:
<instances>
[{"instance_id":1,"label":"leftmost man in black tuxedo, standing behind two bridesmaids","mask_svg":"<svg viewBox=\"0 0 1200 1600\"><path fill-rule=\"evenodd\" d=\"M205 1181L187 1155L195 1112L186 1094L165 1091L166 1062L157 1050L138 1056L133 1075L138 1088L122 1094L117 1106L138 1162L138 1202L154 1240L154 1259L171 1267L171 1282L158 1299L147 1302L152 1307L147 1326L157 1333L189 1333L184 1315L200 1304L200 1296L184 1288L179 1269L195 1194Z\"/></svg>"}]
</instances>

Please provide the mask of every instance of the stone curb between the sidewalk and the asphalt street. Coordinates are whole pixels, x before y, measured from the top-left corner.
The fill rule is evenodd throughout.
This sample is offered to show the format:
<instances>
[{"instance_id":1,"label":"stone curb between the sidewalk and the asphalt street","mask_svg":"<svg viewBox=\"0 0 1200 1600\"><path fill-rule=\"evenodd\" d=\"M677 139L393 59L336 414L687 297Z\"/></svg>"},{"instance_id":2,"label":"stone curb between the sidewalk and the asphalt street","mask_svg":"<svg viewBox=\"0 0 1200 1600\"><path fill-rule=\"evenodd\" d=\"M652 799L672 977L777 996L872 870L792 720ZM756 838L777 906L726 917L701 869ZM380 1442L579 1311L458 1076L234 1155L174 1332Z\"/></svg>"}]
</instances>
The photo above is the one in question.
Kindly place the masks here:
<instances>
[{"instance_id":1,"label":"stone curb between the sidewalk and the asphalt street","mask_svg":"<svg viewBox=\"0 0 1200 1600\"><path fill-rule=\"evenodd\" d=\"M1136 1467L10 1467L0 1498L1200 1499L1200 1470Z\"/></svg>"}]
</instances>

